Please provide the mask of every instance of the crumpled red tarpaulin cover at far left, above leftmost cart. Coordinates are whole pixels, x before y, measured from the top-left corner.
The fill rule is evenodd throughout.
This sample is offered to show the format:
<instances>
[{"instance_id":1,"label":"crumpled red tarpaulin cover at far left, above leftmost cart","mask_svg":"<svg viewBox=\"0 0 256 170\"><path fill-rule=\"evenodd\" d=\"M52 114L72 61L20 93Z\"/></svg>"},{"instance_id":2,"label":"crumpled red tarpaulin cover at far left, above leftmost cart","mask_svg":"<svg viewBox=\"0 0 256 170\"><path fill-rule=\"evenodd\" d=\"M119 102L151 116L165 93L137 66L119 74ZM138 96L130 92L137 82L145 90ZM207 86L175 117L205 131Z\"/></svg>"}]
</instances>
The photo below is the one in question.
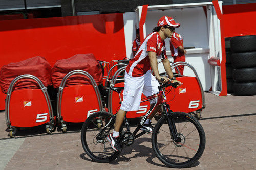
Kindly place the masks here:
<instances>
[{"instance_id":1,"label":"crumpled red tarpaulin cover at far left, above leftmost cart","mask_svg":"<svg viewBox=\"0 0 256 170\"><path fill-rule=\"evenodd\" d=\"M51 65L44 57L36 56L17 63L4 65L0 70L0 86L3 93L7 93L13 79L17 76L30 74L41 80L44 86L52 85ZM36 81L32 79L22 79L15 83L14 89L38 88Z\"/></svg>"}]
</instances>

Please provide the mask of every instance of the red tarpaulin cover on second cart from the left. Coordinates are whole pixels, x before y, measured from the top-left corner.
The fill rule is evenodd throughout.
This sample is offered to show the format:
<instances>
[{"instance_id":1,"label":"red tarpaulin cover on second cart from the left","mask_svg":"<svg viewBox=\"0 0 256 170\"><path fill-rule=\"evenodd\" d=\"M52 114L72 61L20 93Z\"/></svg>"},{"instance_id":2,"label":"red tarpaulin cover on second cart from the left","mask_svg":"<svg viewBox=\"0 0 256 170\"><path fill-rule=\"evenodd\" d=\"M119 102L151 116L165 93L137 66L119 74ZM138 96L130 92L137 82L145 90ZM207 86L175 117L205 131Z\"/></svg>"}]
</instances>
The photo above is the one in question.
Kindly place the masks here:
<instances>
[{"instance_id":1,"label":"red tarpaulin cover on second cart from the left","mask_svg":"<svg viewBox=\"0 0 256 170\"><path fill-rule=\"evenodd\" d=\"M100 64L97 62L93 54L76 54L71 58L57 60L52 68L52 82L53 87L58 88L62 79L73 70L83 70L88 72L97 85L101 84L102 70ZM87 76L72 75L67 80L66 86L75 84L91 84Z\"/></svg>"}]
</instances>

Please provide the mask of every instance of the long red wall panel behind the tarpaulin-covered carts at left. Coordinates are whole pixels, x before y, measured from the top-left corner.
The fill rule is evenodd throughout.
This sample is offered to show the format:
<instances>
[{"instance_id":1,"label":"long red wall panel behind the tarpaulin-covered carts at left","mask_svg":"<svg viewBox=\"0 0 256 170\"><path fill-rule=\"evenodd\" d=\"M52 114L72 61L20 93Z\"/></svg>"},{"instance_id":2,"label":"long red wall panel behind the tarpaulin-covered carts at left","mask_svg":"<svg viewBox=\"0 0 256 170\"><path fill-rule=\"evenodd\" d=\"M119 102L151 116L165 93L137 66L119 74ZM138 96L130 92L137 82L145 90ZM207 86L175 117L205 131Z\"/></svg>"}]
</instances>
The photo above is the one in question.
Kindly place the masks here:
<instances>
[{"instance_id":1,"label":"long red wall panel behind the tarpaulin-covered carts at left","mask_svg":"<svg viewBox=\"0 0 256 170\"><path fill-rule=\"evenodd\" d=\"M0 67L42 56L56 60L93 53L111 61L126 57L123 14L0 21ZM4 109L0 94L0 110Z\"/></svg>"}]
</instances>

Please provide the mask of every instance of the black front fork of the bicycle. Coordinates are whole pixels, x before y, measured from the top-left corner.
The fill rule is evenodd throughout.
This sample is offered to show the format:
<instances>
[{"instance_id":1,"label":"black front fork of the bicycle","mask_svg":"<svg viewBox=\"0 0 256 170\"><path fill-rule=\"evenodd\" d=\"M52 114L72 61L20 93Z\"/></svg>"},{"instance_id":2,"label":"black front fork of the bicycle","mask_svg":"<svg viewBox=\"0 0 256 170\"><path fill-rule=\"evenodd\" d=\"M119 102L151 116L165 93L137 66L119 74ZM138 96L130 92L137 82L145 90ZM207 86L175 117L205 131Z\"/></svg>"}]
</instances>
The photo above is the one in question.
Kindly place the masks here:
<instances>
[{"instance_id":1,"label":"black front fork of the bicycle","mask_svg":"<svg viewBox=\"0 0 256 170\"><path fill-rule=\"evenodd\" d=\"M170 105L167 103L163 103L163 109L164 109L164 117L167 119L167 123L169 126L171 139L174 141L178 141L179 138L177 137L178 132L177 132L175 123L174 123L173 119L169 117L170 113L172 113L173 111L170 110Z\"/></svg>"}]
</instances>

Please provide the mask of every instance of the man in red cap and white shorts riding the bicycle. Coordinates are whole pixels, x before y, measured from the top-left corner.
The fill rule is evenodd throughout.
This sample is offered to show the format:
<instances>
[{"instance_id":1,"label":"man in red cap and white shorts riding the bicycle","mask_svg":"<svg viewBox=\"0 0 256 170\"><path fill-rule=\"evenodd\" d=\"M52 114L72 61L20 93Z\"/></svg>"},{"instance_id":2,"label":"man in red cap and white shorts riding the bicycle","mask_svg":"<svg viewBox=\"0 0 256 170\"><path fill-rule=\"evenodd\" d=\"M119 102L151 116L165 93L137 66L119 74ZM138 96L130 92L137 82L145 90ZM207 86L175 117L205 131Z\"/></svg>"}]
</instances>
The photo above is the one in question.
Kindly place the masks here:
<instances>
[{"instance_id":1,"label":"man in red cap and white shorts riding the bicycle","mask_svg":"<svg viewBox=\"0 0 256 170\"><path fill-rule=\"evenodd\" d=\"M164 42L164 39L173 36L175 27L180 27L180 24L176 23L173 18L168 16L161 17L157 23L157 27L153 29L153 33L149 34L144 39L144 42L140 45L135 57L130 60L129 65L126 67L123 101L117 112L114 131L107 137L112 148L116 151L121 151L119 129L124 120L124 116L128 111L139 109L141 94L143 93L145 96L151 96L158 93L158 81L161 81L161 78L164 79L161 81L163 83L166 83L169 80L172 80L172 83L181 83L173 77ZM162 59L164 69L169 78L165 76L160 77L157 59ZM152 72L155 74L156 78L152 75ZM151 105L155 102L156 99L150 101ZM158 109L155 110L157 111ZM152 116L142 126L141 130L146 130L152 133L153 127L150 125L150 122L154 114L155 113L152 113Z\"/></svg>"}]
</instances>

